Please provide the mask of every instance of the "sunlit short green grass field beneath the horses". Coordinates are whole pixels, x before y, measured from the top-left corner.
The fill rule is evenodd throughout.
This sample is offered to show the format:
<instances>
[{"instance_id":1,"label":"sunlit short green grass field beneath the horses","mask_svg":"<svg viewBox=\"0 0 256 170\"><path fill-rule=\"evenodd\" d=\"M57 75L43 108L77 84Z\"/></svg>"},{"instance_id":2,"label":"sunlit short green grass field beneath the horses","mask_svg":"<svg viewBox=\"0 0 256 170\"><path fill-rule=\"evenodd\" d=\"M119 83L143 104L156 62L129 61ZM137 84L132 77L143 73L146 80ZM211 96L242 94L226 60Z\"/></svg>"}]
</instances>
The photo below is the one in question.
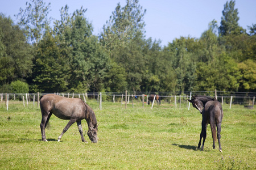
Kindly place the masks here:
<instances>
[{"instance_id":1,"label":"sunlit short green grass field beneath the horses","mask_svg":"<svg viewBox=\"0 0 256 170\"><path fill-rule=\"evenodd\" d=\"M181 105L88 104L96 113L98 143L83 143L76 123L57 142L67 120L56 116L41 141L40 109L19 101L0 103L0 169L256 169L256 109L224 105L222 151L212 148L210 126L204 151L196 150L201 114ZM192 106L192 105L191 105Z\"/></svg>"}]
</instances>

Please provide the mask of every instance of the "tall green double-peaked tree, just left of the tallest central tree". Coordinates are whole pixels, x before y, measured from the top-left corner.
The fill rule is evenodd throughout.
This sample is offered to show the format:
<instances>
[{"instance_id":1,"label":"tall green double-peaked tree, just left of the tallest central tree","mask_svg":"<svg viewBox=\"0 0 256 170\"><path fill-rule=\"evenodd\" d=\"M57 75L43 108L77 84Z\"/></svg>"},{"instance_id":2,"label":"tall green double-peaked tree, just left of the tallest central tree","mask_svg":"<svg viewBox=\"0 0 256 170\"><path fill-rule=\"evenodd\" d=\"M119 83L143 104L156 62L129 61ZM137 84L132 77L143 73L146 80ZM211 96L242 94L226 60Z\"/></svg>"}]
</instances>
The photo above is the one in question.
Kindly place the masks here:
<instances>
[{"instance_id":1,"label":"tall green double-peaked tree, just left of the tallest central tree","mask_svg":"<svg viewBox=\"0 0 256 170\"><path fill-rule=\"evenodd\" d=\"M68 6L61 8L61 20L55 22L59 46L68 54L71 69L71 91L100 91L103 89L109 57L92 35L92 24L84 17L84 10L68 14Z\"/></svg>"}]
</instances>

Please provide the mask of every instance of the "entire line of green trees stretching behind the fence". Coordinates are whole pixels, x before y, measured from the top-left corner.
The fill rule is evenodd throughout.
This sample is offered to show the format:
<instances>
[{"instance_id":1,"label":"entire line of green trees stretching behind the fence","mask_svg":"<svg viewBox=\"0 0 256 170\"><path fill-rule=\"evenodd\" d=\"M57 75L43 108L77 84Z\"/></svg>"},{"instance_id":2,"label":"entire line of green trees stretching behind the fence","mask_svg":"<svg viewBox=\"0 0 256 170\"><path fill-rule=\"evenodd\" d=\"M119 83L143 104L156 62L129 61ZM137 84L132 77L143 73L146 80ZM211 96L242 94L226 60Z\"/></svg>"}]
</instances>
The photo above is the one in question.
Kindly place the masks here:
<instances>
[{"instance_id":1,"label":"entire line of green trees stretching behind the fence","mask_svg":"<svg viewBox=\"0 0 256 170\"><path fill-rule=\"evenodd\" d=\"M256 92L256 24L240 27L235 1L224 4L220 26L212 20L199 39L163 47L146 39L138 0L118 3L100 36L82 7L62 7L51 27L50 3L26 5L17 24L0 14L1 92Z\"/></svg>"}]
</instances>

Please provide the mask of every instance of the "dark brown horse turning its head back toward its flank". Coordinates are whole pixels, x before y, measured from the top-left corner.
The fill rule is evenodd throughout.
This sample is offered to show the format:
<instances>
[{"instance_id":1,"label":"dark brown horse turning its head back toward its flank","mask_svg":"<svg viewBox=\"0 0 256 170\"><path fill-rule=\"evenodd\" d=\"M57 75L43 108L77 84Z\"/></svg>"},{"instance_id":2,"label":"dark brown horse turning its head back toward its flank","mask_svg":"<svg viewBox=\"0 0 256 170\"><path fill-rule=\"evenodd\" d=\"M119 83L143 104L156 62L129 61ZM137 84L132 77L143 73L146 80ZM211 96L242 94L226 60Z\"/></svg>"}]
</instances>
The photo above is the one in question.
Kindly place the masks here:
<instances>
[{"instance_id":1,"label":"dark brown horse turning its head back toward its flank","mask_svg":"<svg viewBox=\"0 0 256 170\"><path fill-rule=\"evenodd\" d=\"M202 130L200 134L200 141L197 146L199 149L201 146L201 139L203 139L203 145L201 146L201 151L204 150L204 142L207 137L207 125L210 124L210 129L212 130L213 145L215 148L216 141L216 126L217 126L217 137L218 137L218 150L222 152L220 138L221 138L221 121L223 118L223 111L220 102L215 98L207 96L193 96L192 100L188 101L192 103L193 107L198 109L203 116L202 120Z\"/></svg>"}]
</instances>

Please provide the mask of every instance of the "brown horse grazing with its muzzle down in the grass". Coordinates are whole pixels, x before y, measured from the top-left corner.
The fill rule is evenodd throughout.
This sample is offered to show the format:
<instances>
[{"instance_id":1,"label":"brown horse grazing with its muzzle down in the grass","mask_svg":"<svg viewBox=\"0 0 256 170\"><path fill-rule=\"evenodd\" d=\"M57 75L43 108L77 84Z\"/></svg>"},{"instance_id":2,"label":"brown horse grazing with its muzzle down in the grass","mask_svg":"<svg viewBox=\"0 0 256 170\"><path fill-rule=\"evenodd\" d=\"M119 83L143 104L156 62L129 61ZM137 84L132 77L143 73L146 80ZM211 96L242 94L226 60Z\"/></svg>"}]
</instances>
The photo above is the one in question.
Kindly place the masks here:
<instances>
[{"instance_id":1,"label":"brown horse grazing with its muzzle down in the grass","mask_svg":"<svg viewBox=\"0 0 256 170\"><path fill-rule=\"evenodd\" d=\"M69 120L68 124L63 129L63 132L60 134L58 142L60 141L63 134L68 130L68 128L75 122L77 123L77 126L79 128L82 142L86 142L84 139L84 135L82 134L81 125L81 120L83 120L84 118L88 124L87 134L90 138L90 141L92 141L93 143L98 142L98 125L95 113L93 112L92 108L90 108L89 105L87 105L81 99L69 99L58 95L48 94L40 97L40 108L42 112L42 121L40 124L40 128L43 141L47 141L45 130L49 118L52 116L52 114L55 114L55 116L61 119Z\"/></svg>"}]
</instances>

